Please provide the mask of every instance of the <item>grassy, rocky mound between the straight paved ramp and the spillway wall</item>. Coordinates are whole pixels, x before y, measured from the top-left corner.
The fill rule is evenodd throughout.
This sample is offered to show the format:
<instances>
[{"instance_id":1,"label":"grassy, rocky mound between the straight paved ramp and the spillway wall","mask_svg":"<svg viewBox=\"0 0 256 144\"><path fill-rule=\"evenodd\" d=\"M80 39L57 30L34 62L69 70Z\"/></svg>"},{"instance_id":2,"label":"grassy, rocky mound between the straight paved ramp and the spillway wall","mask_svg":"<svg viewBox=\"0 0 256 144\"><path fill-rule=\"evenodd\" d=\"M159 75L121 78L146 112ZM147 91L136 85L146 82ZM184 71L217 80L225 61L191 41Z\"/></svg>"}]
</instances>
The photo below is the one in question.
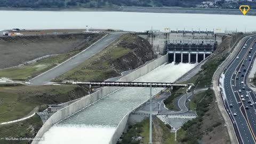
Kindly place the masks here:
<instances>
[{"instance_id":1,"label":"grassy, rocky mound between the straight paved ramp and the spillway wall","mask_svg":"<svg viewBox=\"0 0 256 144\"><path fill-rule=\"evenodd\" d=\"M135 34L124 34L106 49L54 81L104 81L121 76L123 71L135 69L156 57L146 39Z\"/></svg>"}]
</instances>

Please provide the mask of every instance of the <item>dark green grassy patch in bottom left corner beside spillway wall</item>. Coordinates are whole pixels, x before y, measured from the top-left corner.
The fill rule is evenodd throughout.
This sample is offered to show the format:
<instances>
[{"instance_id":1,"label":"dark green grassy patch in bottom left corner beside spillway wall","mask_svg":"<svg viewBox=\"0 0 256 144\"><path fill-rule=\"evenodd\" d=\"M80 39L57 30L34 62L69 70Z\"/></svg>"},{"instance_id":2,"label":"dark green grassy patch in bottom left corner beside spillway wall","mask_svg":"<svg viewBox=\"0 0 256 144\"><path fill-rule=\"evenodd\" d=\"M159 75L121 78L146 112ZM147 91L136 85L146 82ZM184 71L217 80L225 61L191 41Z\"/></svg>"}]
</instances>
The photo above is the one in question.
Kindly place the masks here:
<instances>
[{"instance_id":1,"label":"dark green grassy patch in bottom left corner beside spillway wall","mask_svg":"<svg viewBox=\"0 0 256 144\"><path fill-rule=\"evenodd\" d=\"M22 143L27 144L28 141L7 141L5 138L34 138L41 126L43 125L41 118L35 115L25 121L0 125L0 143Z\"/></svg>"}]
</instances>

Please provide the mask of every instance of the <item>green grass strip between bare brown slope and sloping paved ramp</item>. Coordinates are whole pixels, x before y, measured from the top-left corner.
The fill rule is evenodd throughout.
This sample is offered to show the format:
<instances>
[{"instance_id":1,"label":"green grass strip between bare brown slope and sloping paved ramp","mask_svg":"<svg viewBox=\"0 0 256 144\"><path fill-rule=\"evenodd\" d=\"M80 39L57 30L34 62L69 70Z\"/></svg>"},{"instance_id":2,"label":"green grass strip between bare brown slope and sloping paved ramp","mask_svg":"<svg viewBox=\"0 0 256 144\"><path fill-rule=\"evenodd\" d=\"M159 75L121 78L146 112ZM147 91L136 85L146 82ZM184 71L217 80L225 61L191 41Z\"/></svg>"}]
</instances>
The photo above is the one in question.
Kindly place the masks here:
<instances>
[{"instance_id":1,"label":"green grass strip between bare brown slope and sloping paved ramp","mask_svg":"<svg viewBox=\"0 0 256 144\"><path fill-rule=\"evenodd\" d=\"M26 81L29 78L35 77L36 75L57 66L59 63L65 61L78 52L79 51L74 51L54 55L53 57L39 60L26 66L0 69L0 75L1 77L8 77L13 80Z\"/></svg>"}]
</instances>

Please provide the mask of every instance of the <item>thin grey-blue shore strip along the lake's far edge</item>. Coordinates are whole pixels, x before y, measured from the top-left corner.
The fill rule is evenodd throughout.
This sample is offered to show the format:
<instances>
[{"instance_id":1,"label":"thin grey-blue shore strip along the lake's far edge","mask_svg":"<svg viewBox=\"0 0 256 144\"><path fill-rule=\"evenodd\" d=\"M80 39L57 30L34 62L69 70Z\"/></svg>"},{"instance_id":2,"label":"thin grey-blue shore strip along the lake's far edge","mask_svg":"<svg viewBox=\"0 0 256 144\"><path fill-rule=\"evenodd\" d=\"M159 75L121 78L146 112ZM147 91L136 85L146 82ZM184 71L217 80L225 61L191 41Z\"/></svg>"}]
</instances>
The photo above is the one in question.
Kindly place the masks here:
<instances>
[{"instance_id":1,"label":"thin grey-blue shore strip along the lake's far edge","mask_svg":"<svg viewBox=\"0 0 256 144\"><path fill-rule=\"evenodd\" d=\"M0 7L0 11L56 11L56 12L145 12L145 13L194 13L194 14L231 14L243 15L239 9L205 9L205 8L185 8L185 7L140 7L140 6L120 6L107 8L13 8ZM256 16L256 10L251 9L246 15Z\"/></svg>"}]
</instances>

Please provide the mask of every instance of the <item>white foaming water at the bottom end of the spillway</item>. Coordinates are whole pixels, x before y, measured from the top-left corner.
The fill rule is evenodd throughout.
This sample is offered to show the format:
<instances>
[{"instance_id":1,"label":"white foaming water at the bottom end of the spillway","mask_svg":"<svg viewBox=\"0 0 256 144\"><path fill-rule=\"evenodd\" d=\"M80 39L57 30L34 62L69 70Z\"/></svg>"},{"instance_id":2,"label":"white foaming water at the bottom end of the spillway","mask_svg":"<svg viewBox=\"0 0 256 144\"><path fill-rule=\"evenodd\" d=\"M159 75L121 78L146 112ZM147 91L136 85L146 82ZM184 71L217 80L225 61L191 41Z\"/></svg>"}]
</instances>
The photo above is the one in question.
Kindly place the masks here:
<instances>
[{"instance_id":1,"label":"white foaming water at the bottom end of the spillway","mask_svg":"<svg viewBox=\"0 0 256 144\"><path fill-rule=\"evenodd\" d=\"M57 133L56 133L57 132ZM100 144L109 141L115 132L115 127L65 125L52 126L44 134L45 140L40 144Z\"/></svg>"}]
</instances>

